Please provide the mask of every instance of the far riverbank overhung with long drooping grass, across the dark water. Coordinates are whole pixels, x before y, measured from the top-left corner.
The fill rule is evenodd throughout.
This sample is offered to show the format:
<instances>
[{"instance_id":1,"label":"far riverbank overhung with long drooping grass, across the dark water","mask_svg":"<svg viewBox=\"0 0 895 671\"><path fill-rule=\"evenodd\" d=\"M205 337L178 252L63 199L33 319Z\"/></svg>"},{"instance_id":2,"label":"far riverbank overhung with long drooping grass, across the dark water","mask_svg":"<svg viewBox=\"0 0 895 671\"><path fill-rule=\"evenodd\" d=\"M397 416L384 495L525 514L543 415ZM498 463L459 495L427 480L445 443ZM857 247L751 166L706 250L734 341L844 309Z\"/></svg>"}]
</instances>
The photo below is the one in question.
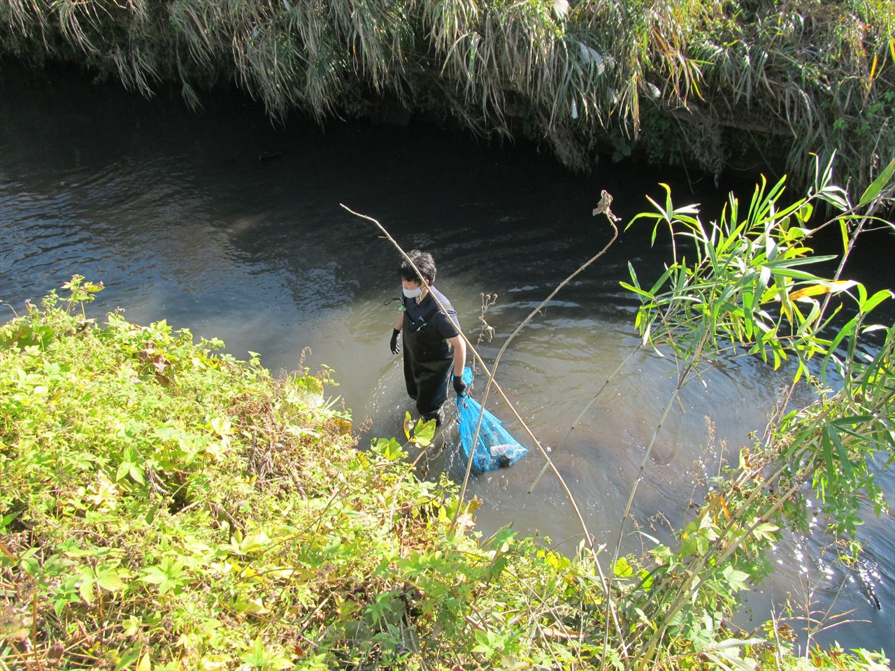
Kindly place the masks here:
<instances>
[{"instance_id":1,"label":"far riverbank overhung with long drooping grass, across the dark water","mask_svg":"<svg viewBox=\"0 0 895 671\"><path fill-rule=\"evenodd\" d=\"M2 54L79 64L192 106L238 87L308 115L534 140L568 168L636 157L714 175L838 155L861 192L895 155L895 8L700 0L0 5Z\"/></svg>"}]
</instances>

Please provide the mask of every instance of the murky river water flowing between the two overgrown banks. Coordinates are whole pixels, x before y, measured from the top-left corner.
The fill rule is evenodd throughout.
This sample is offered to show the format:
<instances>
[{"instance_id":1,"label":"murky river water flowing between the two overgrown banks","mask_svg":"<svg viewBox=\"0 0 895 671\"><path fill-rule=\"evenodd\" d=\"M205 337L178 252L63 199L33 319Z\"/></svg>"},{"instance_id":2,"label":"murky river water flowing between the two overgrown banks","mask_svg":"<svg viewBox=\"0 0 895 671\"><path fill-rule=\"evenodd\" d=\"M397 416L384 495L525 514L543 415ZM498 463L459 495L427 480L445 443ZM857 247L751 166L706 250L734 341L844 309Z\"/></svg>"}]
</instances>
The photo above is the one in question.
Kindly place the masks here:
<instances>
[{"instance_id":1,"label":"murky river water flowing between the two overgrown banks","mask_svg":"<svg viewBox=\"0 0 895 671\"><path fill-rule=\"evenodd\" d=\"M399 256L340 204L379 220L405 249L435 254L435 284L473 341L482 293L498 294L485 313L495 335L480 348L490 362L516 325L609 241L605 219L592 217L601 190L614 197L622 224L647 208L645 194L664 198L660 182L672 185L678 204L703 203L705 219L723 197L711 180L683 170L607 162L574 176L533 147L488 145L423 123L320 129L293 120L284 129L234 95L209 96L194 114L174 96L146 100L10 70L0 81L0 319L72 274L101 280L94 316L122 306L135 323L167 319L220 337L237 358L260 352L275 373L331 367L339 383L332 393L351 409L362 440L400 435L410 408L400 358L388 351L396 303L385 303L400 291ZM558 446L575 427L554 460L588 530L610 548L674 386L673 364L638 349L636 302L618 285L628 262L649 283L669 259L661 246L650 249L649 235L645 224L623 232L516 338L498 374L542 445ZM891 265L877 258L876 268L868 266L873 255L862 258L866 276L895 285ZM761 433L785 378L760 361L731 361L703 382L685 388L639 483L637 525L654 538L668 539L669 526L686 521L719 455L736 455L750 431ZM521 436L506 408L493 410ZM478 527L487 536L512 523L571 551L582 530L558 483L545 476L529 493L541 466L533 451L474 477ZM441 470L462 477L449 448L430 459L429 477ZM891 471L881 482L895 499ZM814 616L853 611L838 619L857 621L814 640L891 653L895 534L891 517L865 517L868 580L830 566L830 539L789 540L741 624L761 624L788 596L808 598ZM632 531L625 551L652 547Z\"/></svg>"}]
</instances>

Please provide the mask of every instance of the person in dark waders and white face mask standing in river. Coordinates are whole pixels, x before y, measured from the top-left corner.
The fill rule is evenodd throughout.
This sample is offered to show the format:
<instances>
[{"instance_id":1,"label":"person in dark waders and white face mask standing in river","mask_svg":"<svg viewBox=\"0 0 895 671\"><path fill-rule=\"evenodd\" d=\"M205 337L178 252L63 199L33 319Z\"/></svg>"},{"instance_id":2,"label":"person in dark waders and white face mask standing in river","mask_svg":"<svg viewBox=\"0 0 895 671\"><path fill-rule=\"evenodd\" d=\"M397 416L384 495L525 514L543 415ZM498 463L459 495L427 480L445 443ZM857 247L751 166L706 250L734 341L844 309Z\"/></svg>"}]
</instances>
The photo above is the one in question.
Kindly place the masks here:
<instances>
[{"instance_id":1,"label":"person in dark waders and white face mask standing in river","mask_svg":"<svg viewBox=\"0 0 895 671\"><path fill-rule=\"evenodd\" d=\"M404 295L389 349L397 354L404 344L407 394L416 401L416 409L424 420L436 420L436 426L440 426L445 420L447 381L452 371L454 391L462 395L466 390L463 381L466 343L460 335L456 311L447 297L432 285L435 259L428 251L419 250L407 256L420 275L406 259L401 262L398 274ZM402 343L398 343L398 335Z\"/></svg>"}]
</instances>

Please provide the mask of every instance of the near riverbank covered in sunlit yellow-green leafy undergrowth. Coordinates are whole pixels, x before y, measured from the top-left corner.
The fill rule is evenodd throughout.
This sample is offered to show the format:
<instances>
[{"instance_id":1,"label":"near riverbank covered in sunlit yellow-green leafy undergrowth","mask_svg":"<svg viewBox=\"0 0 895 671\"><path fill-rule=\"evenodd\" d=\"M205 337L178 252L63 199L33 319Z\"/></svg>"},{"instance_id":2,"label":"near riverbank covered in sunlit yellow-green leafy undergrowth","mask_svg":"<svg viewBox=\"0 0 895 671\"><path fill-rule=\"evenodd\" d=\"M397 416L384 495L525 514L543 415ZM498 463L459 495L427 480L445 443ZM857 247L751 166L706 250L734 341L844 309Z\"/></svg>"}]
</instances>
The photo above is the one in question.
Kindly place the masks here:
<instances>
[{"instance_id":1,"label":"near riverbank covered in sunlit yellow-green leafy undergrowth","mask_svg":"<svg viewBox=\"0 0 895 671\"><path fill-rule=\"evenodd\" d=\"M272 378L165 321L100 327L100 290L74 276L0 328L5 665L624 667L634 557L607 592L586 546L481 539L475 501L413 478L417 446L354 445L326 375ZM885 667L765 633L675 637L650 667Z\"/></svg>"}]
</instances>

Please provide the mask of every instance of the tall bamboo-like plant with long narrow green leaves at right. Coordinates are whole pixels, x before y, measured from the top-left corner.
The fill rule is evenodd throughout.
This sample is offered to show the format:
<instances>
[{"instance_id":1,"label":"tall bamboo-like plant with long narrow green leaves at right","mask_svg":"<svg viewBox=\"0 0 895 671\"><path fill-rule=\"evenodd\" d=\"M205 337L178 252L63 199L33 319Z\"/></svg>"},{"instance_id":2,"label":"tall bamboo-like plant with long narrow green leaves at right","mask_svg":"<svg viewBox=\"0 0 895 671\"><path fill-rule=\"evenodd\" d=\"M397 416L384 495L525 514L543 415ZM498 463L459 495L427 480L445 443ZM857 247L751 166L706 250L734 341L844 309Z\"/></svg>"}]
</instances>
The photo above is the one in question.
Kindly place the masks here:
<instances>
[{"instance_id":1,"label":"tall bamboo-like plant with long narrow green leaves at right","mask_svg":"<svg viewBox=\"0 0 895 671\"><path fill-rule=\"evenodd\" d=\"M663 185L664 204L651 199L655 211L632 220L652 221L653 241L661 227L668 227L672 238L672 262L652 285L641 284L633 267L631 282L622 284L641 302L635 325L643 344L676 362L675 394L704 366L749 355L788 369L789 394L805 382L817 398L778 412L763 441L741 448L737 468L708 483L695 518L678 532L679 548L652 550L655 570L637 572L616 560L615 582L630 599L623 612L640 618L633 627L646 641L636 656L641 664L661 658L671 640L688 641L721 667L753 667L761 655L749 662L739 651L750 650L756 641L725 641L719 624L736 606L737 591L770 573L766 551L780 527L809 531L810 489L823 507L828 531L839 538L854 536L862 503L873 505L876 514L887 511L874 478L895 461L895 327L868 322L895 293L868 295L863 285L838 274L811 273L811 264L831 258L814 255L808 244L826 225L839 225L841 271L865 225L895 228L872 215L880 199L891 194L893 166L895 161L868 187L857 208L832 184L831 164L818 162L814 188L789 204L782 199L784 180L770 188L762 181L748 207L740 207L731 195L720 219L704 225L698 208L675 206ZM811 228L821 202L840 208L840 214ZM863 346L874 335L882 335L882 341ZM852 560L843 557L847 564ZM798 663L833 666L838 654L818 651L811 661L806 656ZM843 660L842 667L888 664L865 651L856 655Z\"/></svg>"}]
</instances>

